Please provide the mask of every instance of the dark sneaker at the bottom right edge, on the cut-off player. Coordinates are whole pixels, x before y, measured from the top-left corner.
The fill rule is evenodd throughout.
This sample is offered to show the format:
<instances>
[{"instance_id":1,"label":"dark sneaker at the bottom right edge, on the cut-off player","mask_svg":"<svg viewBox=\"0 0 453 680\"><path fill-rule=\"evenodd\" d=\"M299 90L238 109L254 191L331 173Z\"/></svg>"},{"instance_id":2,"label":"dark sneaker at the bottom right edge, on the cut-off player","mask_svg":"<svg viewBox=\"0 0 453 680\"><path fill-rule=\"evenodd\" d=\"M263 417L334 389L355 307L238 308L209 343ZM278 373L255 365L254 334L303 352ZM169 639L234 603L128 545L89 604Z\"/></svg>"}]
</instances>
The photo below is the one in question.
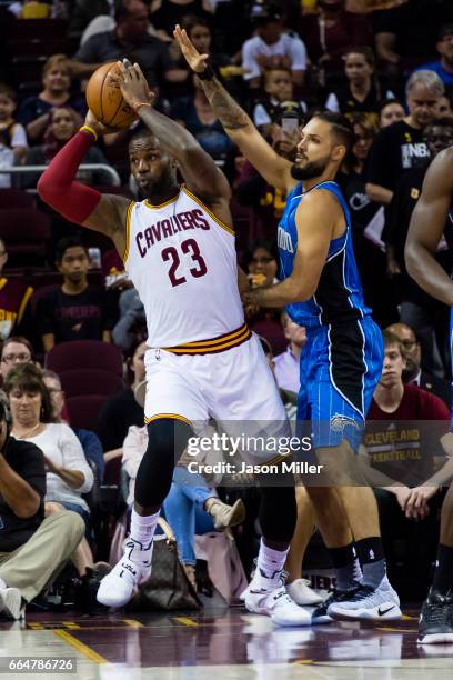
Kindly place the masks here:
<instances>
[{"instance_id":1,"label":"dark sneaker at the bottom right edge, on the cut-off player","mask_svg":"<svg viewBox=\"0 0 453 680\"><path fill-rule=\"evenodd\" d=\"M453 591L431 588L419 620L419 644L453 644Z\"/></svg>"}]
</instances>

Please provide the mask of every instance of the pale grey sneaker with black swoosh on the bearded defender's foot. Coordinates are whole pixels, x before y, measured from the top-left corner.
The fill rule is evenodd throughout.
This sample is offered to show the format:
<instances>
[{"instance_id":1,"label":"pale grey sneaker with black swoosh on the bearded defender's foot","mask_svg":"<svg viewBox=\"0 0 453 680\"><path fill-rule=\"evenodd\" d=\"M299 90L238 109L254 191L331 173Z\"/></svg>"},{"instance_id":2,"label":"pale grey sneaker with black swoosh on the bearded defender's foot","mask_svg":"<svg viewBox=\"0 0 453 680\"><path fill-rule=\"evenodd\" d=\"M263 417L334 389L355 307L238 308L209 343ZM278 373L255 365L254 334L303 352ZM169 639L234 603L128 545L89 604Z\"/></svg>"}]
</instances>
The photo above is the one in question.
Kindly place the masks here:
<instances>
[{"instance_id":1,"label":"pale grey sneaker with black swoosh on the bearded defender's foot","mask_svg":"<svg viewBox=\"0 0 453 680\"><path fill-rule=\"evenodd\" d=\"M394 621L402 616L400 598L386 576L378 588L358 584L350 598L330 604L328 614L338 621Z\"/></svg>"}]
</instances>

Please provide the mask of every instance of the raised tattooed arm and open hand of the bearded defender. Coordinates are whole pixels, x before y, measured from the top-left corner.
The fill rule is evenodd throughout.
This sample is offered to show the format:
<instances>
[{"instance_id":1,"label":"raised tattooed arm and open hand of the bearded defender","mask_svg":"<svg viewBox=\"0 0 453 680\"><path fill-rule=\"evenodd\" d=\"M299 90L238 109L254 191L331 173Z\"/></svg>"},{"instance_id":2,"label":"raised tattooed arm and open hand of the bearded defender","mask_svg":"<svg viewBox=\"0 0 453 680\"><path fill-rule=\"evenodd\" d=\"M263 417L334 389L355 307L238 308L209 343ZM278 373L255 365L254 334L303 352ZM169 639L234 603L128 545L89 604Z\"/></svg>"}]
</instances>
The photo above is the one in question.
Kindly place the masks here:
<instances>
[{"instance_id":1,"label":"raised tattooed arm and open hand of the bearded defender","mask_svg":"<svg viewBox=\"0 0 453 680\"><path fill-rule=\"evenodd\" d=\"M187 62L195 73L207 69L208 54L199 54L188 38L185 30L177 26L174 37L178 40ZM226 92L217 78L200 80L204 93L225 129L226 134L238 144L245 158L259 173L273 187L290 191L296 182L291 177L291 163L279 156L260 134L245 111Z\"/></svg>"}]
</instances>

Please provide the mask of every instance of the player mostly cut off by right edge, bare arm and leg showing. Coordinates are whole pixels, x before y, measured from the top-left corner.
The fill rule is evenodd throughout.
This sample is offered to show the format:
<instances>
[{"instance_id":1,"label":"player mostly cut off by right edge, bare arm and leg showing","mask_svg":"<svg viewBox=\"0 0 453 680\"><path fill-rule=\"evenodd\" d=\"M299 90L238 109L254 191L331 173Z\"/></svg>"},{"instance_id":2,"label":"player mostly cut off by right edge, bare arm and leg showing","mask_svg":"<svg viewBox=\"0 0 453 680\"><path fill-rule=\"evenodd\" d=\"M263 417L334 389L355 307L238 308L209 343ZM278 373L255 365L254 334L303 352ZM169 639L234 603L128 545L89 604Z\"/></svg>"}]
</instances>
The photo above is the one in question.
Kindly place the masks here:
<instances>
[{"instance_id":1,"label":"player mostly cut off by right edge, bare arm and leg showing","mask_svg":"<svg viewBox=\"0 0 453 680\"><path fill-rule=\"evenodd\" d=\"M441 151L426 172L422 194L412 213L405 247L405 261L411 277L430 296L452 308L452 350L453 282L435 259L445 224L447 229L453 229L453 148ZM442 507L436 569L420 617L419 642L453 643L453 486Z\"/></svg>"}]
</instances>

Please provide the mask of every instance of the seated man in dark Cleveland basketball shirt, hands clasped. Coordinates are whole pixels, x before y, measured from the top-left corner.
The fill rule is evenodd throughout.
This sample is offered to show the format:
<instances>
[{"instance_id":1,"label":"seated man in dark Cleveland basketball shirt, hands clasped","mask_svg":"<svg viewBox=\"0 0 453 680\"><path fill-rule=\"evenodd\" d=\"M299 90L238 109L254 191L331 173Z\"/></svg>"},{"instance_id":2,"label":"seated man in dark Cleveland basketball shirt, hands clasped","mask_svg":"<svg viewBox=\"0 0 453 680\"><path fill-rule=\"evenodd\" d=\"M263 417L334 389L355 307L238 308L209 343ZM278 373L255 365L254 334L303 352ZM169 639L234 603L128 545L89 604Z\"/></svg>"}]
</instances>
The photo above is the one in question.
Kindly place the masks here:
<instances>
[{"instance_id":1,"label":"seated man in dark Cleveland basketball shirt, hands clasped","mask_svg":"<svg viewBox=\"0 0 453 680\"><path fill-rule=\"evenodd\" d=\"M378 487L389 577L393 577L396 562L394 539L407 537L404 578L423 597L437 542L439 490L453 471L440 442L450 430L450 411L434 394L404 384L404 352L397 337L389 331L384 331L384 351L361 461L365 478ZM436 422L427 426L425 421ZM409 520L419 520L416 528Z\"/></svg>"}]
</instances>

